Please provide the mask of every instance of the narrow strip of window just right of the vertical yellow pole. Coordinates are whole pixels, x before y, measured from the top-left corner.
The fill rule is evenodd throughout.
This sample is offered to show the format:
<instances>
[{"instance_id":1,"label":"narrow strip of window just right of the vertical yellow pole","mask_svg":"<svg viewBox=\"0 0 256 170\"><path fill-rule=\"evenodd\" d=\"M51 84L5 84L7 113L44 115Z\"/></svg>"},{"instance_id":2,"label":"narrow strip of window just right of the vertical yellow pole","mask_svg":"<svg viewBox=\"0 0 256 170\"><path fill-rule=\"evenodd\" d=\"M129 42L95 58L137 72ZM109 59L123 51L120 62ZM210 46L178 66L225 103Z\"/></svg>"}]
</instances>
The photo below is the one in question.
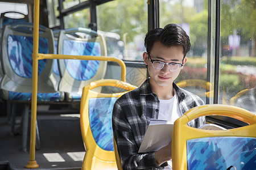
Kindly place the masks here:
<instances>
[{"instance_id":1,"label":"narrow strip of window just right of the vertical yellow pole","mask_svg":"<svg viewBox=\"0 0 256 170\"><path fill-rule=\"evenodd\" d=\"M48 8L49 28L60 25L60 20L57 19L57 16L60 15L59 10L57 10L59 6L58 0L48 0L47 6L48 6L47 8Z\"/></svg>"}]
</instances>

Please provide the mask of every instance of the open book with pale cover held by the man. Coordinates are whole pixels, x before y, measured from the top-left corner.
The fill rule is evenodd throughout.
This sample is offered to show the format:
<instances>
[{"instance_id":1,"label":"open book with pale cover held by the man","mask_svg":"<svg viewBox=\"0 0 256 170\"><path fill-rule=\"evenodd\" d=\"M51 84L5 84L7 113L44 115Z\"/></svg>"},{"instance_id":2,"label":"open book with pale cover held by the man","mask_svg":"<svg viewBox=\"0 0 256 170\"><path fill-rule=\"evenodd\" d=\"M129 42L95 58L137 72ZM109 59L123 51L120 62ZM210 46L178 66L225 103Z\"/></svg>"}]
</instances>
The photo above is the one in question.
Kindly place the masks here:
<instances>
[{"instance_id":1,"label":"open book with pale cover held by the man","mask_svg":"<svg viewBox=\"0 0 256 170\"><path fill-rule=\"evenodd\" d=\"M138 152L158 151L160 148L168 145L172 141L173 128L174 122L151 119ZM226 130L215 124L204 124L198 129Z\"/></svg>"}]
</instances>

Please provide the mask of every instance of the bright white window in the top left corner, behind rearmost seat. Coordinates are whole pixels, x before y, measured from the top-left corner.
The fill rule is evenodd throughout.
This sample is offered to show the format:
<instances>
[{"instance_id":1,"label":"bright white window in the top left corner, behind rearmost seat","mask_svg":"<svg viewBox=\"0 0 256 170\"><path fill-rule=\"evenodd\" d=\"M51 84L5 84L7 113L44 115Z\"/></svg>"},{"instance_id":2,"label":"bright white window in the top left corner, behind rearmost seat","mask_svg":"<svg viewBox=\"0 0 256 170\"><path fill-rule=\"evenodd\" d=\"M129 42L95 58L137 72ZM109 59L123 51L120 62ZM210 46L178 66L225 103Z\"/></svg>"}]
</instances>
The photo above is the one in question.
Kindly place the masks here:
<instances>
[{"instance_id":1,"label":"bright white window in the top left corner, behind rearmost seat","mask_svg":"<svg viewBox=\"0 0 256 170\"><path fill-rule=\"evenodd\" d=\"M16 11L21 12L22 14L27 15L27 5L23 3L9 3L9 2L0 2L0 12L7 12L7 11ZM9 18L20 18L19 14L10 14L10 16L7 16Z\"/></svg>"}]
</instances>

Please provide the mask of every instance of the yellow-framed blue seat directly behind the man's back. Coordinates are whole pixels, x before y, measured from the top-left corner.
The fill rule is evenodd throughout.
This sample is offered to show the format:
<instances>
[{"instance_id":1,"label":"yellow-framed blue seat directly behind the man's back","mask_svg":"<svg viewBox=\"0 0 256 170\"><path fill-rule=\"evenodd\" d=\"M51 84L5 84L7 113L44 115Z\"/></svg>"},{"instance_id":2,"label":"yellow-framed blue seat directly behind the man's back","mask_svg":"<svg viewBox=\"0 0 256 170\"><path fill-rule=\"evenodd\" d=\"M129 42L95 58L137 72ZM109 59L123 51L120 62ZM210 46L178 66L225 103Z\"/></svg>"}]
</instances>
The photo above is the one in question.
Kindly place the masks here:
<instances>
[{"instance_id":1,"label":"yellow-framed blue seat directly behind the man's back","mask_svg":"<svg viewBox=\"0 0 256 170\"><path fill-rule=\"evenodd\" d=\"M104 94L93 91L96 87L118 87L119 93ZM122 88L122 89L121 89ZM121 80L97 80L82 89L80 125L86 149L82 169L117 169L115 162L112 109L115 100L127 91L137 88Z\"/></svg>"}]
</instances>

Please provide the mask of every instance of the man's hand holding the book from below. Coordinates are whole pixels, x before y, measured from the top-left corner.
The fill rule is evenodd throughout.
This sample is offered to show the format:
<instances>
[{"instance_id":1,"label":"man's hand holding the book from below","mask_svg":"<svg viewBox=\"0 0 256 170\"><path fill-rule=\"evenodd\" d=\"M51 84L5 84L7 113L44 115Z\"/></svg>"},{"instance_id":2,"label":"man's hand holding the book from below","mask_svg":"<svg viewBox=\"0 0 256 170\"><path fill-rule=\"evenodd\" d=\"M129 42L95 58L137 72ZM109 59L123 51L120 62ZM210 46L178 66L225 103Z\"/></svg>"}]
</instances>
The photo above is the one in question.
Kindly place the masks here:
<instances>
[{"instance_id":1,"label":"man's hand holding the book from below","mask_svg":"<svg viewBox=\"0 0 256 170\"><path fill-rule=\"evenodd\" d=\"M155 152L155 161L158 165L172 159L172 142Z\"/></svg>"}]
</instances>

